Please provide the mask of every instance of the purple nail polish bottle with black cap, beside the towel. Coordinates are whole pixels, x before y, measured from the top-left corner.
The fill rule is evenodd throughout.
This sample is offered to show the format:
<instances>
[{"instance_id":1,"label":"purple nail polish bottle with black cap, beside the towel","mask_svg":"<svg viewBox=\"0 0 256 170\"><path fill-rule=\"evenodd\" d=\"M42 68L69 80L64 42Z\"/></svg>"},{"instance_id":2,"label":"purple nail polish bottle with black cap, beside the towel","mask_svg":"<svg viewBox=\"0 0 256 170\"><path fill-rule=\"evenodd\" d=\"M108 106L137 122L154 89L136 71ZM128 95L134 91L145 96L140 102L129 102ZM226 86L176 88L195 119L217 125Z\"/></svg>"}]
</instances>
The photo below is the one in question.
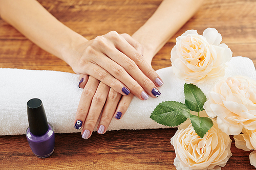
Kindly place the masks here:
<instances>
[{"instance_id":1,"label":"purple nail polish bottle with black cap, beside the towel","mask_svg":"<svg viewBox=\"0 0 256 170\"><path fill-rule=\"evenodd\" d=\"M32 152L38 158L47 158L54 151L54 129L47 122L44 106L40 99L31 99L27 102L29 127L26 137Z\"/></svg>"}]
</instances>

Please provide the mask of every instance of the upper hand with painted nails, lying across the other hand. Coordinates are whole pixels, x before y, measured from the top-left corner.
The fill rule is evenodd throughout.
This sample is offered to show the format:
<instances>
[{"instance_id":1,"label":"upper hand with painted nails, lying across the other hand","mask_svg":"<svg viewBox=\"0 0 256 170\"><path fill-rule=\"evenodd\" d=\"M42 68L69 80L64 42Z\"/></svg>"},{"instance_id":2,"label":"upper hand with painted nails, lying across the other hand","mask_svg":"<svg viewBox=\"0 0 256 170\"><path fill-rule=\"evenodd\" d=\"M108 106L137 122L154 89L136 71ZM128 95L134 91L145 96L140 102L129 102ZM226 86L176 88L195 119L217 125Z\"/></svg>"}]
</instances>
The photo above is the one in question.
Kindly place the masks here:
<instances>
[{"instance_id":1,"label":"upper hand with painted nails, lying across the other hand","mask_svg":"<svg viewBox=\"0 0 256 170\"><path fill-rule=\"evenodd\" d=\"M156 98L162 80L139 48L142 45L128 34L112 31L83 42L69 63L77 74L90 75L122 95L131 91L140 100Z\"/></svg>"}]
</instances>

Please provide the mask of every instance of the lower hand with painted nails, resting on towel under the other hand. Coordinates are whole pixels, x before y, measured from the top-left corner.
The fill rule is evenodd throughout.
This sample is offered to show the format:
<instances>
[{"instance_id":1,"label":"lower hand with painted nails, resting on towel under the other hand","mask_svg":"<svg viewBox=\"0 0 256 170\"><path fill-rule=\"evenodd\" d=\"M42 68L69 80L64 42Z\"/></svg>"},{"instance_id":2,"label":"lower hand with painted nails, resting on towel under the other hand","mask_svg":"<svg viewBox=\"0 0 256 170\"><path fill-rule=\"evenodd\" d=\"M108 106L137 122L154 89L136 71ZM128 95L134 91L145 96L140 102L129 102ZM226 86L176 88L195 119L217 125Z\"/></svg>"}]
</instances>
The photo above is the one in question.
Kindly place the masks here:
<instances>
[{"instance_id":1,"label":"lower hand with painted nails, resting on towel under the other hand","mask_svg":"<svg viewBox=\"0 0 256 170\"><path fill-rule=\"evenodd\" d=\"M109 86L99 82L93 77L80 74L79 87L83 88L81 99L78 105L75 128L82 128L82 138L88 139L97 123L97 132L104 134L108 129L113 115L120 119L126 112L133 99L133 94L121 95Z\"/></svg>"}]
</instances>

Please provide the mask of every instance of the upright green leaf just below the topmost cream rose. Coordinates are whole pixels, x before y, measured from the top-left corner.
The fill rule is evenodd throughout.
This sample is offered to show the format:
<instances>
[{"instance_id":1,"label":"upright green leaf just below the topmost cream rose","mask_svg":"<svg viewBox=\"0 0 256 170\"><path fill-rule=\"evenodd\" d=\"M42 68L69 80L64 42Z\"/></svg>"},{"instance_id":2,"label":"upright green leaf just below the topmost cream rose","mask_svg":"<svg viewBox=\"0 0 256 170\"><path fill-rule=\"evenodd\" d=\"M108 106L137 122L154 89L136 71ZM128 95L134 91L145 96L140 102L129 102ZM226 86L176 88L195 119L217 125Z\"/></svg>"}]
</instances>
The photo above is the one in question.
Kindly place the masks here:
<instances>
[{"instance_id":1,"label":"upright green leaf just below the topmost cream rose","mask_svg":"<svg viewBox=\"0 0 256 170\"><path fill-rule=\"evenodd\" d=\"M184 84L185 103L188 108L195 112L204 110L204 103L206 102L206 96L194 84Z\"/></svg>"}]
</instances>

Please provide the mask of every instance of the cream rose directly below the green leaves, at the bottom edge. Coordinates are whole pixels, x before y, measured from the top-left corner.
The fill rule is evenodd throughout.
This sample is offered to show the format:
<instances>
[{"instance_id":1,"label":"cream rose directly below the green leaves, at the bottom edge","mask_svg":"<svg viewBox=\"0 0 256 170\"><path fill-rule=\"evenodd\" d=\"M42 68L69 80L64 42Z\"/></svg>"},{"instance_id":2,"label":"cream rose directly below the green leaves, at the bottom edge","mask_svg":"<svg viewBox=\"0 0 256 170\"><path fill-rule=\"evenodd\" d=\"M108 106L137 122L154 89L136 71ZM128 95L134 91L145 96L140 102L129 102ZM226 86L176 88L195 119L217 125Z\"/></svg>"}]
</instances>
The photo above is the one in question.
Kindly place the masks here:
<instances>
[{"instance_id":1,"label":"cream rose directly below the green leaves, at the bottom edge","mask_svg":"<svg viewBox=\"0 0 256 170\"><path fill-rule=\"evenodd\" d=\"M174 165L180 170L220 169L225 166L229 157L231 139L222 132L216 120L214 126L200 138L189 121L183 123L170 139L175 149Z\"/></svg>"}]
</instances>

